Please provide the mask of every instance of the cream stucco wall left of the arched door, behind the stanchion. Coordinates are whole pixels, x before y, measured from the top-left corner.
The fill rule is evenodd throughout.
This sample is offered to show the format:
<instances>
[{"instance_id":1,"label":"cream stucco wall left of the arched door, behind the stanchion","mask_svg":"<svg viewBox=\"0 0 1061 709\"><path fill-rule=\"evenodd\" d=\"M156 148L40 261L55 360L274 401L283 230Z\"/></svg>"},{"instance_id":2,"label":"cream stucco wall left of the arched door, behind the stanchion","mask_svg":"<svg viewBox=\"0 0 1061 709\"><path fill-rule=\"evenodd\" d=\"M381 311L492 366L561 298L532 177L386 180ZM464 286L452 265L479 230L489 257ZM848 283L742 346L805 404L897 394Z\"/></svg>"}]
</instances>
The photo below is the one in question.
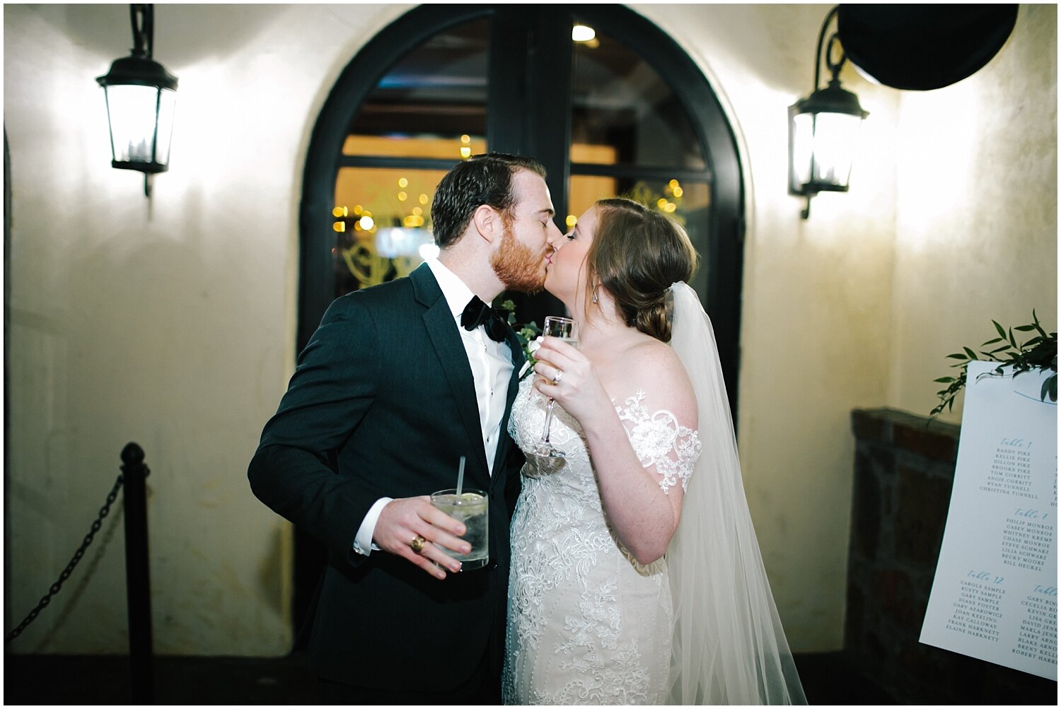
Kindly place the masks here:
<instances>
[{"instance_id":1,"label":"cream stucco wall left of the arched door, behind the stanchion","mask_svg":"<svg viewBox=\"0 0 1061 709\"><path fill-rule=\"evenodd\" d=\"M12 164L10 557L17 624L88 531L128 441L151 466L155 651L290 646L286 524L246 466L294 369L297 208L313 122L395 5L157 5L180 82L170 172L110 167L94 77L128 5L5 5ZM124 652L123 530L98 538L16 652ZM101 532L102 537L104 532Z\"/></svg>"}]
</instances>

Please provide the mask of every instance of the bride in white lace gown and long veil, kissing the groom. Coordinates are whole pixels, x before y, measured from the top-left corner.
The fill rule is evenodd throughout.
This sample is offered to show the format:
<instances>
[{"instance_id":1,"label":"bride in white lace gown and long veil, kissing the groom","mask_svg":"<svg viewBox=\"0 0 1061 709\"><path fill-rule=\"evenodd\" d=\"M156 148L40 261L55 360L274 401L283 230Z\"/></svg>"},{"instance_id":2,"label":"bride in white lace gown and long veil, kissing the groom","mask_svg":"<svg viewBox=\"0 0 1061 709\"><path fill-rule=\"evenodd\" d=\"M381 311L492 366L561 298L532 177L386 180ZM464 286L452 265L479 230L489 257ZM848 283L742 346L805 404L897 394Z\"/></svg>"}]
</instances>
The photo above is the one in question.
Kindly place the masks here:
<instances>
[{"instance_id":1,"label":"bride in white lace gown and long veil, kissing the groom","mask_svg":"<svg viewBox=\"0 0 1061 709\"><path fill-rule=\"evenodd\" d=\"M596 202L553 244L545 288L577 349L543 338L509 432L506 704L805 704L763 570L696 252L666 216ZM669 343L669 345L668 345Z\"/></svg>"}]
</instances>

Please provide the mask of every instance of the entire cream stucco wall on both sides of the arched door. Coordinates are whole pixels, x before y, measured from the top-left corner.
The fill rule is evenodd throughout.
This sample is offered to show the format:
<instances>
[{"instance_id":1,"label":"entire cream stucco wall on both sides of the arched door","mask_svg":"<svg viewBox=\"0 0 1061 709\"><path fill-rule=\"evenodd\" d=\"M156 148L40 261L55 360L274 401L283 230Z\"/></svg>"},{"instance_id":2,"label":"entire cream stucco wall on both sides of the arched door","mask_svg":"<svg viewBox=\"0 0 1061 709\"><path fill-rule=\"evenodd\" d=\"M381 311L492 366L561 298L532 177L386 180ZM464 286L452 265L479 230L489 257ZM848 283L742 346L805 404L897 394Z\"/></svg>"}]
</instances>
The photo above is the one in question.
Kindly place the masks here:
<instances>
[{"instance_id":1,"label":"entire cream stucco wall on both sides of the arched door","mask_svg":"<svg viewBox=\"0 0 1061 709\"><path fill-rule=\"evenodd\" d=\"M290 529L245 471L294 368L300 175L338 73L408 7L156 5L155 56L180 88L149 203L139 173L109 167L93 82L127 51L127 5L4 6L7 627L58 575L133 440L152 467L156 652L288 651ZM942 357L987 339L991 317L1036 306L1056 326L1056 6L1022 5L995 60L950 89L846 72L871 112L863 155L851 192L816 198L806 221L786 194L786 107L811 90L828 6L632 7L699 64L738 136L746 489L794 650L836 650L850 410L926 411ZM111 524L14 652L124 652Z\"/></svg>"}]
</instances>

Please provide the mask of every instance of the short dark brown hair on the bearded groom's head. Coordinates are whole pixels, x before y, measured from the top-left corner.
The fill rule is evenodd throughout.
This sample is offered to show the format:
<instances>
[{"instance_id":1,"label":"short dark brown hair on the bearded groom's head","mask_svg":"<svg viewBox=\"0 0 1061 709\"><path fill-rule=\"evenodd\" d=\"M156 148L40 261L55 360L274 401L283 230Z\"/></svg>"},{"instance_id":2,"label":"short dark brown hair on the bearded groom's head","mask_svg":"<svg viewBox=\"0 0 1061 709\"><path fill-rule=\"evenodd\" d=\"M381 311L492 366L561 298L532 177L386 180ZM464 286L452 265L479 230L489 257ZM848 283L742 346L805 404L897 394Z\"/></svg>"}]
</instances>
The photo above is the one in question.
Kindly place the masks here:
<instances>
[{"instance_id":1,"label":"short dark brown hair on the bearded groom's head","mask_svg":"<svg viewBox=\"0 0 1061 709\"><path fill-rule=\"evenodd\" d=\"M512 175L519 170L545 178L545 169L534 158L504 153L473 155L447 173L431 203L432 232L438 248L445 249L460 238L472 214L483 205L508 217L516 206Z\"/></svg>"}]
</instances>

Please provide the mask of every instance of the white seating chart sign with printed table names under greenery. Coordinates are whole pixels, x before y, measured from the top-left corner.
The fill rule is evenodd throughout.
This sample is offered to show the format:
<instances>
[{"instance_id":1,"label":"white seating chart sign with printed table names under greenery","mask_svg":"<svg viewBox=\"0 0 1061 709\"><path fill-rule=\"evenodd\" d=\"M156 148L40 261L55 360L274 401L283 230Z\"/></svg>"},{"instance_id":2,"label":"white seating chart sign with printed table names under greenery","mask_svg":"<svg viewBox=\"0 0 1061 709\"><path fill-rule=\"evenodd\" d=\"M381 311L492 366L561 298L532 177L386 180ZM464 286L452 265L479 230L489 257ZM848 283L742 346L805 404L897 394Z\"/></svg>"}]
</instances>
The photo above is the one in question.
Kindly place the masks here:
<instances>
[{"instance_id":1,"label":"white seating chart sign with printed table names under greenery","mask_svg":"<svg viewBox=\"0 0 1061 709\"><path fill-rule=\"evenodd\" d=\"M921 642L1057 680L1057 404L973 361Z\"/></svg>"}]
</instances>

